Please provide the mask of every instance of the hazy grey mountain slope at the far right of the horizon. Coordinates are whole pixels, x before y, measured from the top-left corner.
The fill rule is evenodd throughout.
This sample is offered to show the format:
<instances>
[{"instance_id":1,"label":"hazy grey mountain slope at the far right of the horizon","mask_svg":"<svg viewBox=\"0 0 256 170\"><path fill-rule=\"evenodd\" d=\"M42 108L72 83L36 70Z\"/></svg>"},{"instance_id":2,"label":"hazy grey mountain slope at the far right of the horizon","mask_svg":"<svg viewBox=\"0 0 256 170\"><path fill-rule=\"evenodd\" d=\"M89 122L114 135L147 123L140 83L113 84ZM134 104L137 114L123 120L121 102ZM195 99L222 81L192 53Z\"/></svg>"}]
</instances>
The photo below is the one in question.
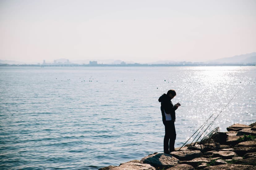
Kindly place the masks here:
<instances>
[{"instance_id":1,"label":"hazy grey mountain slope at the far right of the horizon","mask_svg":"<svg viewBox=\"0 0 256 170\"><path fill-rule=\"evenodd\" d=\"M236 55L209 61L211 64L256 64L256 53Z\"/></svg>"}]
</instances>

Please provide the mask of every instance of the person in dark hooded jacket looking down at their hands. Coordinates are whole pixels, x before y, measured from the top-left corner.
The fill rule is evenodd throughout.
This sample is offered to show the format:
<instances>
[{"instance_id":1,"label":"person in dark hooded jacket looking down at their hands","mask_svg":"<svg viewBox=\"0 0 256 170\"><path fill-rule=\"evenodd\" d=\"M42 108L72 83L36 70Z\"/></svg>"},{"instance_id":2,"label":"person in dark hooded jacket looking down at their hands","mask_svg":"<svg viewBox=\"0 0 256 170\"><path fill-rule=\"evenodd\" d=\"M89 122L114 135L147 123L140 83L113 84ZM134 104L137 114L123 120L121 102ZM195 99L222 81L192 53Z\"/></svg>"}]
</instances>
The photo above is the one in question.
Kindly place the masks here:
<instances>
[{"instance_id":1,"label":"person in dark hooded jacket looking down at their hands","mask_svg":"<svg viewBox=\"0 0 256 170\"><path fill-rule=\"evenodd\" d=\"M180 103L173 105L172 99L176 96L175 90L169 90L167 94L159 97L158 101L161 102L161 113L164 123L164 153L170 154L174 151L174 143L176 139L175 131L175 110L178 109Z\"/></svg>"}]
</instances>

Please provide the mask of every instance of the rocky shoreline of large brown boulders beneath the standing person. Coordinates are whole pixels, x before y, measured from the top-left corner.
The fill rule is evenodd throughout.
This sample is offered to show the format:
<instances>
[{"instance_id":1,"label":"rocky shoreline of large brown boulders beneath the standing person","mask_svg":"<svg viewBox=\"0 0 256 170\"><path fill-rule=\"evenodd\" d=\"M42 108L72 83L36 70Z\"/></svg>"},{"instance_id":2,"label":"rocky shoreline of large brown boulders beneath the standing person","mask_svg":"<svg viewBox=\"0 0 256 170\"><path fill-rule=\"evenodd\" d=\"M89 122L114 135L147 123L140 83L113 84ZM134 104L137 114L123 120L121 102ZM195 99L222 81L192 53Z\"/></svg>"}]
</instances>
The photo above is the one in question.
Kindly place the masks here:
<instances>
[{"instance_id":1,"label":"rocky shoreline of large brown boulders beneath the standing person","mask_svg":"<svg viewBox=\"0 0 256 170\"><path fill-rule=\"evenodd\" d=\"M204 143L175 148L170 155L154 153L99 170L256 170L256 122L234 124L227 130Z\"/></svg>"}]
</instances>

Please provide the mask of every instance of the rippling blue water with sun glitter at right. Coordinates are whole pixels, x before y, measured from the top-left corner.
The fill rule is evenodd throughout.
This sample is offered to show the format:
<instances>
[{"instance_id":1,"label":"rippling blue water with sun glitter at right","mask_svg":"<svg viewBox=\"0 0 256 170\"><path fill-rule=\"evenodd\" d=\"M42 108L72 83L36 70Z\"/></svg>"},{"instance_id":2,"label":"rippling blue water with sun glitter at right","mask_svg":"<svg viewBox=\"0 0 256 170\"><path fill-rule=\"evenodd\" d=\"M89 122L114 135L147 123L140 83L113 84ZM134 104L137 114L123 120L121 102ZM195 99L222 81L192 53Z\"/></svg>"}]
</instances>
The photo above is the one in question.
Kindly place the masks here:
<instances>
[{"instance_id":1,"label":"rippling blue water with sun glitter at right","mask_svg":"<svg viewBox=\"0 0 256 170\"><path fill-rule=\"evenodd\" d=\"M89 169L163 152L158 98L169 89L180 147L256 121L256 67L0 67L1 169Z\"/></svg>"}]
</instances>

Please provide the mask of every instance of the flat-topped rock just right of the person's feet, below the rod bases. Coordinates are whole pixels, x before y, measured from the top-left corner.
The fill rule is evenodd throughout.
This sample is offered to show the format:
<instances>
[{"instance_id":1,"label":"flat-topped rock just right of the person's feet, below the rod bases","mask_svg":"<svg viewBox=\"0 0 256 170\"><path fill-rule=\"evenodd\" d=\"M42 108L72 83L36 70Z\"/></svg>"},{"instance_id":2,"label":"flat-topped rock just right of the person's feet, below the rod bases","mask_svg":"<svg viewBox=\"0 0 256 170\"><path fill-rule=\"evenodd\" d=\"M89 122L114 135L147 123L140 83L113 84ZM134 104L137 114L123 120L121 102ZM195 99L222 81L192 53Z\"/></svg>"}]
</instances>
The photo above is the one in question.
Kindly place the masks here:
<instances>
[{"instance_id":1,"label":"flat-topped rock just right of the person's feet, below the rod bases","mask_svg":"<svg viewBox=\"0 0 256 170\"><path fill-rule=\"evenodd\" d=\"M201 151L174 151L170 153L178 160L192 160L201 156Z\"/></svg>"}]
</instances>

